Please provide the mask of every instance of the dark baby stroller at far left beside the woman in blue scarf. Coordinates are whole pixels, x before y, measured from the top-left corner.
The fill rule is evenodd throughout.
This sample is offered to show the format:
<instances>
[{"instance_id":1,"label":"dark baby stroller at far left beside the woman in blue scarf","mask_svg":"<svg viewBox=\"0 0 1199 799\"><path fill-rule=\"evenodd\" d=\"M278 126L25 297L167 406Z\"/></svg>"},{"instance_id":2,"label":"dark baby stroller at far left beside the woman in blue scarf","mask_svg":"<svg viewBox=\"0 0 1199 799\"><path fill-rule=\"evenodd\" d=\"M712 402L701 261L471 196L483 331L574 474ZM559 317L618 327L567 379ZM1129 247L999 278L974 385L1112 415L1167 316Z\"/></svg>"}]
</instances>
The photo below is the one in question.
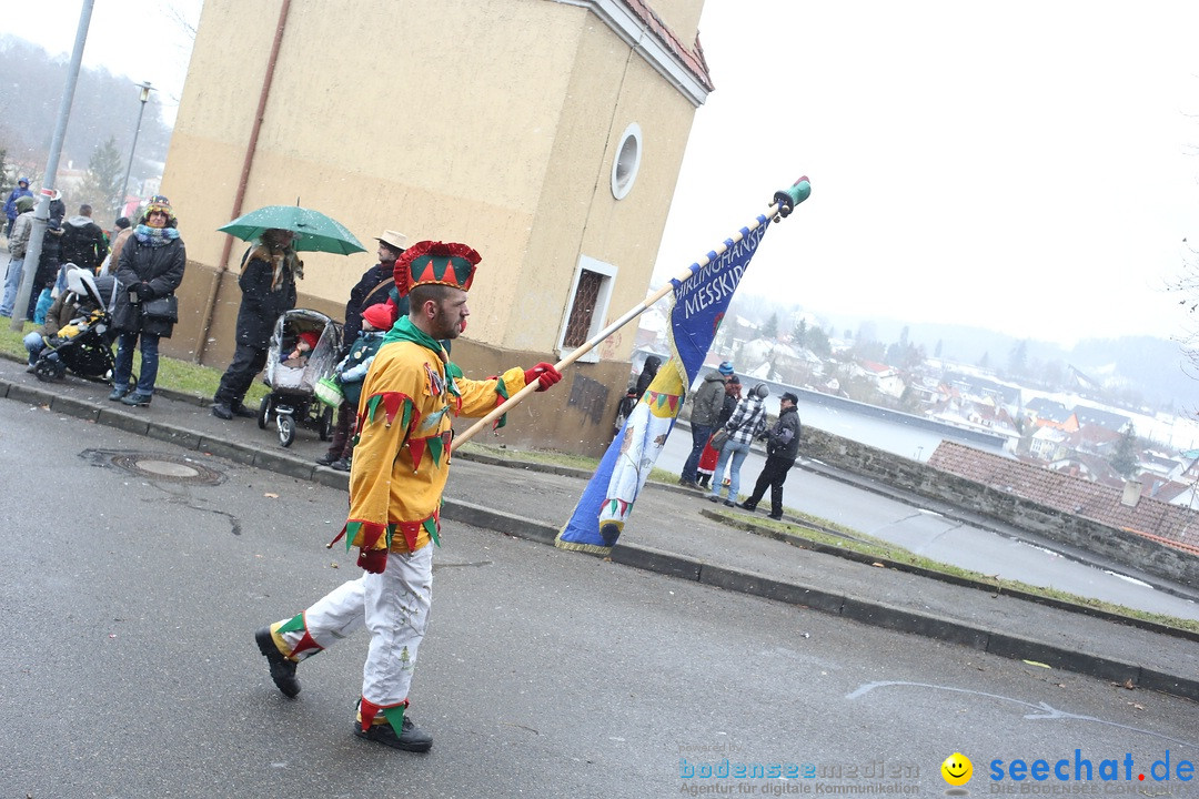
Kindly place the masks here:
<instances>
[{"instance_id":1,"label":"dark baby stroller at far left beside the woman in blue scarf","mask_svg":"<svg viewBox=\"0 0 1199 799\"><path fill-rule=\"evenodd\" d=\"M108 382L113 379L113 305L116 302L115 278L92 277L88 270L67 272L67 290L94 303L95 309L71 320L46 340L34 374L38 380L62 380L67 369L86 380Z\"/></svg>"}]
</instances>

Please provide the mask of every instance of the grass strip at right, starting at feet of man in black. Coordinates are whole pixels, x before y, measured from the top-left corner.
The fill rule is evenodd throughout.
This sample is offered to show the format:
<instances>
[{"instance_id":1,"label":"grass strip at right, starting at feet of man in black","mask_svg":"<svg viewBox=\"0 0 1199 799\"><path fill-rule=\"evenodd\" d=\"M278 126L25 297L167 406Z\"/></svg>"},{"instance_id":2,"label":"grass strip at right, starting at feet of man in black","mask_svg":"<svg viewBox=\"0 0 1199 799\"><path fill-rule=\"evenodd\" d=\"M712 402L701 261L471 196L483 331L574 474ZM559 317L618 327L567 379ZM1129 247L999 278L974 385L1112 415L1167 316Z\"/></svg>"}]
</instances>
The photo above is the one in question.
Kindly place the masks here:
<instances>
[{"instance_id":1,"label":"grass strip at right, starting at feet of man in black","mask_svg":"<svg viewBox=\"0 0 1199 799\"><path fill-rule=\"evenodd\" d=\"M790 510L790 508L788 508L788 510ZM1195 619L1177 618L1174 616L1167 616L1164 613L1151 613L1149 611L1140 611L1132 607L1125 607L1123 605L1115 605L1113 603L1107 603L1101 599L1092 599L1090 597L1079 597L1077 594L1071 594L1065 591L1058 591L1056 588L1046 588L1043 586L1030 586L1018 580L999 580L994 575L984 575L978 571L971 571L970 569L962 569L950 563L932 561L921 555L916 555L902 546L892 544L891 541L885 541L879 538L874 538L873 535L868 535L856 529L844 527L843 525L836 525L825 519L820 519L819 516L812 516L809 514L795 513L795 512L791 512L791 514L801 520L799 529L796 529L795 525L790 525L782 521L775 521L773 519L754 517L753 523L778 531L790 538L806 539L817 544L823 544L825 546L833 546L837 549L850 550L852 552L867 555L873 558L894 561L896 563L904 563L921 569L927 569L929 571L936 571L940 574L960 577L963 580L972 580L976 582L986 583L988 586L994 586L996 591L1004 591L1004 589L1019 591L1022 593L1031 594L1034 597L1044 597L1047 599L1055 599L1058 601L1070 603L1071 605L1081 605L1084 607L1092 607L1095 610L1103 611L1105 613L1126 616L1129 618L1141 619L1145 622L1152 622L1155 624L1173 627L1180 630L1189 630L1192 632L1199 632L1199 621ZM745 523L746 521L743 515L741 514L734 515L730 512L718 510L717 515L724 516L725 519L729 520L729 522L739 526Z\"/></svg>"}]
</instances>

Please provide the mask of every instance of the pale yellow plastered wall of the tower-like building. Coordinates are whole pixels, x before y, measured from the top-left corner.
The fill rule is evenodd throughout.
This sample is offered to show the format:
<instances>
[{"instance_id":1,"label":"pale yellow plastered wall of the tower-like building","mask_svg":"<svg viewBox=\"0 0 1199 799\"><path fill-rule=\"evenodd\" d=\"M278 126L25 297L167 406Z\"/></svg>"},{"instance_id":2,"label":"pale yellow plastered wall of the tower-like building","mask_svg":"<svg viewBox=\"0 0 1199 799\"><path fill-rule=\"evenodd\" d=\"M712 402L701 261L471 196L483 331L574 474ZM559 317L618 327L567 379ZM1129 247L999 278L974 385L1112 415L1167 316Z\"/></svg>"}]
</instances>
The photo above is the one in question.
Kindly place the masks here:
<instances>
[{"instance_id":1,"label":"pale yellow plastered wall of the tower-like building","mask_svg":"<svg viewBox=\"0 0 1199 799\"><path fill-rule=\"evenodd\" d=\"M281 7L282 0L255 0L247 13L245 2L205 1L163 176L189 261L181 323L164 349L195 352L213 297L203 357L210 365L224 365L233 352L235 278L247 247L233 242L222 264L228 237L216 229L235 216ZM694 40L693 28L676 32ZM351 256L302 254L300 303L337 319L375 264L373 237L382 230L399 230L410 243L468 242L483 262L464 337L478 346L464 341L462 353L553 361L580 255L619 268L609 317L644 297L693 114L585 7L341 0L331 14L318 0L293 0L241 212L299 200L362 241L367 252ZM633 121L643 129L641 164L617 201L611 164ZM633 327L603 347L615 363L578 364L610 386L613 408ZM558 424L573 424L577 436L561 394L548 404L560 405ZM537 399L544 405L550 395Z\"/></svg>"}]
</instances>

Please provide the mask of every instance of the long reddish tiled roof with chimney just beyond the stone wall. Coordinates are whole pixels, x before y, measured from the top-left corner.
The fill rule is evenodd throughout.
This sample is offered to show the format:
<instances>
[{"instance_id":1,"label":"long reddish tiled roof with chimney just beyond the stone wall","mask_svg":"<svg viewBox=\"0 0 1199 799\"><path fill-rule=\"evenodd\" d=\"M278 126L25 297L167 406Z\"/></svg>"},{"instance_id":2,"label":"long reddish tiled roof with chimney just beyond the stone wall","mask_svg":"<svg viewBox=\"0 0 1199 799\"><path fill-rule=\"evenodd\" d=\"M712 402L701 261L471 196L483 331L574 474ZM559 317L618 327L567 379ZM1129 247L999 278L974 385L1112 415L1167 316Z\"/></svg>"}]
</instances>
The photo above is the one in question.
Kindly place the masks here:
<instances>
[{"instance_id":1,"label":"long reddish tiled roof with chimney just beyond the stone wall","mask_svg":"<svg viewBox=\"0 0 1199 799\"><path fill-rule=\"evenodd\" d=\"M1120 501L1120 489L1059 474L951 441L940 443L928 459L928 465L1109 527L1188 546L1199 545L1199 515L1188 508L1145 496L1135 507L1128 507Z\"/></svg>"}]
</instances>

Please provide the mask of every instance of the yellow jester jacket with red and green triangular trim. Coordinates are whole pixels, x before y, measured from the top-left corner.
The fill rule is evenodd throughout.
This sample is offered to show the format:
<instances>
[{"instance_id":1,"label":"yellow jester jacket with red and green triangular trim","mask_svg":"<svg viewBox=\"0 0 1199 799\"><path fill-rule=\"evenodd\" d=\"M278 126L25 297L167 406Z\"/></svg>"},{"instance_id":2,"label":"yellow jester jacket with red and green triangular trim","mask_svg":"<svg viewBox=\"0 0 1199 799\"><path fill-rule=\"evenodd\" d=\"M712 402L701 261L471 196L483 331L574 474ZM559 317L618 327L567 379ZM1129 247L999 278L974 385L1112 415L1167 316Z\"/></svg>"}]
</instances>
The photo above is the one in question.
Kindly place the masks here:
<instances>
[{"instance_id":1,"label":"yellow jester jacket with red and green triangular trim","mask_svg":"<svg viewBox=\"0 0 1199 799\"><path fill-rule=\"evenodd\" d=\"M458 369L435 341L436 351L391 339L362 385L345 533L363 551L409 552L438 540L453 417L486 416L525 383L519 368L489 380L447 377Z\"/></svg>"}]
</instances>

